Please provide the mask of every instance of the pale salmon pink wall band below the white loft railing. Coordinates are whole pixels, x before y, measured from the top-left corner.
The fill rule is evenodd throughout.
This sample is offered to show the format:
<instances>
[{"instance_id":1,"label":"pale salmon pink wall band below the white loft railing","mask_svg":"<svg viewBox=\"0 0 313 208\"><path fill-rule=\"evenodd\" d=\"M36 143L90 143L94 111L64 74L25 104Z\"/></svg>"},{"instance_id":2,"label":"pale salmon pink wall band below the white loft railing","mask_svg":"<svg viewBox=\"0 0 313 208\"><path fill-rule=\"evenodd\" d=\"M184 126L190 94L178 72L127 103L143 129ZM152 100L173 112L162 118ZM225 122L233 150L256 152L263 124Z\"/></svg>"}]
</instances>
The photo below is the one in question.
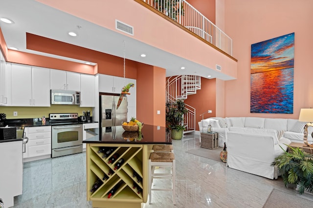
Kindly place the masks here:
<instances>
[{"instance_id":1,"label":"pale salmon pink wall band below the white loft railing","mask_svg":"<svg viewBox=\"0 0 313 208\"><path fill-rule=\"evenodd\" d=\"M201 40L183 31L172 21L165 20L162 16L151 12L135 0L38 1L211 69L215 70L216 64L219 64L222 66L224 74L233 78L237 76L236 60L217 52L215 48L208 44L203 44ZM137 1L143 2L141 0ZM209 2L213 1L210 0ZM215 7L213 8L215 11ZM118 9L118 12L116 12L116 9ZM89 11L92 11L92 13ZM132 25L134 27L134 36L116 30L115 20ZM169 34L168 31L171 31L171 33ZM182 42L184 44L181 44ZM178 74L180 74L179 71Z\"/></svg>"}]
</instances>

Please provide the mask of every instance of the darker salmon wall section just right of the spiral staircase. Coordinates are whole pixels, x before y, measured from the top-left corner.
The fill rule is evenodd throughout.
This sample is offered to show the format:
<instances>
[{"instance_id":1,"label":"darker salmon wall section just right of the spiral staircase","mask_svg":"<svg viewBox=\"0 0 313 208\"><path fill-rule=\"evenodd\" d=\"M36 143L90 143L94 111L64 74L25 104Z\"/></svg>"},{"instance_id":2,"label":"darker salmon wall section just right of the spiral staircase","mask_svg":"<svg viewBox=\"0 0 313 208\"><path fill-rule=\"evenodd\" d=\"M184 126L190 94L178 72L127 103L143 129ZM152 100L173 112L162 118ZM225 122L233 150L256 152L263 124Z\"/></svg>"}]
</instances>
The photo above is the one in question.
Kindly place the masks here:
<instances>
[{"instance_id":1,"label":"darker salmon wall section just right of the spiral staircase","mask_svg":"<svg viewBox=\"0 0 313 208\"><path fill-rule=\"evenodd\" d=\"M201 90L197 90L196 94L188 95L185 104L196 108L196 130L199 131L198 122L202 119L200 114L212 110L212 113L205 113L203 118L216 115L216 79L201 78Z\"/></svg>"}]
</instances>

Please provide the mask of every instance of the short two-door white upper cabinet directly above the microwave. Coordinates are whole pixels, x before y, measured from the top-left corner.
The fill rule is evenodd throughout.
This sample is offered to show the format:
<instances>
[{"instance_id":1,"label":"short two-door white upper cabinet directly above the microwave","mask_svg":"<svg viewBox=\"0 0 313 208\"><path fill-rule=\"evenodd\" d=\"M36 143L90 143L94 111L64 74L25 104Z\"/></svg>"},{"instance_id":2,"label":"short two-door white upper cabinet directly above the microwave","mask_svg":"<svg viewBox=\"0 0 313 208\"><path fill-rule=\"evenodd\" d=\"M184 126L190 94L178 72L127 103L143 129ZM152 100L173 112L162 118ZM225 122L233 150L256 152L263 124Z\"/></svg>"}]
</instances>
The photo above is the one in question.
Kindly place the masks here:
<instances>
[{"instance_id":1,"label":"short two-door white upper cabinet directly above the microwave","mask_svg":"<svg viewBox=\"0 0 313 208\"><path fill-rule=\"evenodd\" d=\"M80 91L80 74L75 72L51 69L51 89Z\"/></svg>"}]
</instances>

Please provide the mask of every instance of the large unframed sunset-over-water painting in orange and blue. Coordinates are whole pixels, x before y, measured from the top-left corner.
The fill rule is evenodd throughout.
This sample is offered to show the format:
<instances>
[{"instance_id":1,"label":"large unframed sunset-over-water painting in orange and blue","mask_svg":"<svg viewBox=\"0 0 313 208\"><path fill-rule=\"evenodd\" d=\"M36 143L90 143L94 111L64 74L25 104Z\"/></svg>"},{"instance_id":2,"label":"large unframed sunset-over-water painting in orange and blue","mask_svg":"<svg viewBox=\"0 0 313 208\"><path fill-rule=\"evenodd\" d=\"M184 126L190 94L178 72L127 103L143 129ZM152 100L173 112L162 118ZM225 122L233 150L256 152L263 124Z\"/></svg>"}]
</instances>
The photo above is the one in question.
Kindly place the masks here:
<instances>
[{"instance_id":1,"label":"large unframed sunset-over-water painting in orange and blue","mask_svg":"<svg viewBox=\"0 0 313 208\"><path fill-rule=\"evenodd\" d=\"M293 113L294 33L251 45L251 113Z\"/></svg>"}]
</instances>

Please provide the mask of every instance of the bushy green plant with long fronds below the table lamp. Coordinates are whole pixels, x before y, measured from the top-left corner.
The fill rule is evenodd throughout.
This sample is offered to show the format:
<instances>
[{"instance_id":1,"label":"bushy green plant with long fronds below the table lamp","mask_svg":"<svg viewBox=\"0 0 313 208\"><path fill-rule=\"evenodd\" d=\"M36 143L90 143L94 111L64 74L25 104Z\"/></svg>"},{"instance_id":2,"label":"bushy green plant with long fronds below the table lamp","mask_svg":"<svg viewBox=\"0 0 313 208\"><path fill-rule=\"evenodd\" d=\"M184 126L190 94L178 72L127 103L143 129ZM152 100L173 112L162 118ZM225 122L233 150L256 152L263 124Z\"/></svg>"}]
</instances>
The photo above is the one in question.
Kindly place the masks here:
<instances>
[{"instance_id":1,"label":"bushy green plant with long fronds below the table lamp","mask_svg":"<svg viewBox=\"0 0 313 208\"><path fill-rule=\"evenodd\" d=\"M297 186L299 194L305 190L313 193L313 155L303 149L289 146L289 152L275 158L272 166L277 166L282 174L285 186Z\"/></svg>"}]
</instances>

